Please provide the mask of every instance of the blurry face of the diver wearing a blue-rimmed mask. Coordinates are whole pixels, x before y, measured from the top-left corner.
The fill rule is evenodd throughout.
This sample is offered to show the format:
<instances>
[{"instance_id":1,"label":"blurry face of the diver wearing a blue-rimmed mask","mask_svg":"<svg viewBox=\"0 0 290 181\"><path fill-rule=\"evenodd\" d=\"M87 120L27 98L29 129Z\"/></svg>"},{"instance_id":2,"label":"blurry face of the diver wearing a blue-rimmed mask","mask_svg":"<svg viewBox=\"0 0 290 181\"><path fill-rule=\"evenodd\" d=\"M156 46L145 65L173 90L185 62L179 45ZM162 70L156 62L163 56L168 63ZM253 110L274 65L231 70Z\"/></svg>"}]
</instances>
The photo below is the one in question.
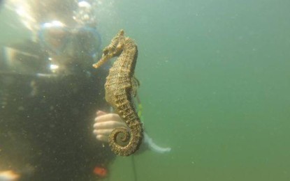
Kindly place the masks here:
<instances>
[{"instance_id":1,"label":"blurry face of the diver wearing a blue-rimmed mask","mask_svg":"<svg viewBox=\"0 0 290 181\"><path fill-rule=\"evenodd\" d=\"M50 56L51 70L60 73L91 67L101 45L96 29L89 26L70 28L61 22L43 24L38 37Z\"/></svg>"}]
</instances>

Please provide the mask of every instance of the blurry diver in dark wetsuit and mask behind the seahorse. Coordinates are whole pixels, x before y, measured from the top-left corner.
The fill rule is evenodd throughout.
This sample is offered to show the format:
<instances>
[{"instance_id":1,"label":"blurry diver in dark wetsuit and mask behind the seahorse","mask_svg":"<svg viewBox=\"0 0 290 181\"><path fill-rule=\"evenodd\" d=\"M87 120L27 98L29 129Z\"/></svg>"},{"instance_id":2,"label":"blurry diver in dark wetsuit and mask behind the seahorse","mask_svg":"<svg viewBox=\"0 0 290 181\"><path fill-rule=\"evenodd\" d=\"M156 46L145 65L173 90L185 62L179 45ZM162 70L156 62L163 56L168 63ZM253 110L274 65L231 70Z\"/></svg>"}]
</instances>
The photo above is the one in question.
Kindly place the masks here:
<instances>
[{"instance_id":1,"label":"blurry diver in dark wetsuit and mask behind the seahorse","mask_svg":"<svg viewBox=\"0 0 290 181\"><path fill-rule=\"evenodd\" d=\"M31 39L0 52L0 179L98 180L115 155L95 1L10 0ZM147 134L142 152L160 148ZM2 171L2 172L1 172ZM1 175L2 174L2 175Z\"/></svg>"}]
</instances>

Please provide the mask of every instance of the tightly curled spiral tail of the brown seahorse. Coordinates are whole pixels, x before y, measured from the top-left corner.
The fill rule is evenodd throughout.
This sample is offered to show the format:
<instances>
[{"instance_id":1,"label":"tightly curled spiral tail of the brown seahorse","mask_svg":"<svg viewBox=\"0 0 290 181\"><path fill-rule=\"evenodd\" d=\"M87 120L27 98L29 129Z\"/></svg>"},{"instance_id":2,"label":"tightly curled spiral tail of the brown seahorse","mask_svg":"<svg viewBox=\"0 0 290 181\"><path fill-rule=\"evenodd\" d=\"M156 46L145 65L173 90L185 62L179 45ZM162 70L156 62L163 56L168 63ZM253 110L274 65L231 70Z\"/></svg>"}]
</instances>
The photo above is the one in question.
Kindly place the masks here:
<instances>
[{"instance_id":1,"label":"tightly curled spiral tail of the brown seahorse","mask_svg":"<svg viewBox=\"0 0 290 181\"><path fill-rule=\"evenodd\" d=\"M140 144L142 143L142 123L136 121L133 126L129 125L129 128L131 129L131 134L129 134L129 130L126 129L126 127L117 127L113 129L113 131L110 133L109 145L116 155L129 156L136 152L136 150L138 150ZM127 145L122 146L117 143L117 136L120 133L123 134L121 141L126 142L130 140Z\"/></svg>"}]
</instances>

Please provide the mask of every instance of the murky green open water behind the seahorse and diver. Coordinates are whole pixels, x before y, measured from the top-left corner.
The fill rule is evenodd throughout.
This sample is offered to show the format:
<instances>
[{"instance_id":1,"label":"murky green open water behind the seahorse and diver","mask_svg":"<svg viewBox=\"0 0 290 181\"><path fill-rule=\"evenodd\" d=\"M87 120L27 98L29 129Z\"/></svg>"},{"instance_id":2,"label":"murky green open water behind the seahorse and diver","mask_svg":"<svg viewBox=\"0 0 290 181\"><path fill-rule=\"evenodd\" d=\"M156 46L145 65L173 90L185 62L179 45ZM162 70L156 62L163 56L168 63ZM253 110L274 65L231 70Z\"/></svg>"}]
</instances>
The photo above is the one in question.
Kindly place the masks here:
<instances>
[{"instance_id":1,"label":"murky green open water behind the seahorse and diver","mask_svg":"<svg viewBox=\"0 0 290 181\"><path fill-rule=\"evenodd\" d=\"M290 180L290 1L103 1L103 47L136 40L146 132L106 180ZM1 10L0 45L29 33ZM5 21L3 21L5 19Z\"/></svg>"}]
</instances>

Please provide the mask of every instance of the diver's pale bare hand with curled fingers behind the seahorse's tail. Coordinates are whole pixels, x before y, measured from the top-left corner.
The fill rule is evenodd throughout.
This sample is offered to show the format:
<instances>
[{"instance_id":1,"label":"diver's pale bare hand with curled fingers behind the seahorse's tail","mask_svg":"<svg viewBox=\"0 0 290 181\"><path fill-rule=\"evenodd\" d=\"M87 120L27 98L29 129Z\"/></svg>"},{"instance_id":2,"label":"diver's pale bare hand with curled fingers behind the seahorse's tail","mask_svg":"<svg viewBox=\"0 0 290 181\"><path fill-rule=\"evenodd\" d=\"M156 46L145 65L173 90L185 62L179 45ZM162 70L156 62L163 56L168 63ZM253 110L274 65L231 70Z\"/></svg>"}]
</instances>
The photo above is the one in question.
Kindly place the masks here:
<instances>
[{"instance_id":1,"label":"diver's pale bare hand with curled fingers behind the seahorse's tail","mask_svg":"<svg viewBox=\"0 0 290 181\"><path fill-rule=\"evenodd\" d=\"M94 134L99 141L108 142L110 132L116 127L127 127L117 113L96 111L94 119Z\"/></svg>"}]
</instances>

